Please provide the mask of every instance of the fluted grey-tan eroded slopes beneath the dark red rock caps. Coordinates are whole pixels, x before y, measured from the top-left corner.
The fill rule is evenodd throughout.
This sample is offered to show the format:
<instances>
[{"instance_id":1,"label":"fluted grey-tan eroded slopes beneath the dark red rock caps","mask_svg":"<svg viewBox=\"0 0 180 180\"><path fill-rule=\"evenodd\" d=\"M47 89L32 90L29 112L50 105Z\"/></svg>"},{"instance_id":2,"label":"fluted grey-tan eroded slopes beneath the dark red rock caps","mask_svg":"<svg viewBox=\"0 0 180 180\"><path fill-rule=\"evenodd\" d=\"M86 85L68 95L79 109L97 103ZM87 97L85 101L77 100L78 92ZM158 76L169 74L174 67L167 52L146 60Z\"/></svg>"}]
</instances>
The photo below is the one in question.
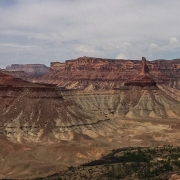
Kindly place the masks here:
<instances>
[{"instance_id":1,"label":"fluted grey-tan eroded slopes beneath the dark red rock caps","mask_svg":"<svg viewBox=\"0 0 180 180\"><path fill-rule=\"evenodd\" d=\"M76 133L95 138L117 129L115 119L180 119L180 101L163 89L134 87L94 94L65 91L62 95L39 90L30 97L28 93L24 90L15 96L4 91L0 97L0 133L10 139L69 141Z\"/></svg>"}]
</instances>

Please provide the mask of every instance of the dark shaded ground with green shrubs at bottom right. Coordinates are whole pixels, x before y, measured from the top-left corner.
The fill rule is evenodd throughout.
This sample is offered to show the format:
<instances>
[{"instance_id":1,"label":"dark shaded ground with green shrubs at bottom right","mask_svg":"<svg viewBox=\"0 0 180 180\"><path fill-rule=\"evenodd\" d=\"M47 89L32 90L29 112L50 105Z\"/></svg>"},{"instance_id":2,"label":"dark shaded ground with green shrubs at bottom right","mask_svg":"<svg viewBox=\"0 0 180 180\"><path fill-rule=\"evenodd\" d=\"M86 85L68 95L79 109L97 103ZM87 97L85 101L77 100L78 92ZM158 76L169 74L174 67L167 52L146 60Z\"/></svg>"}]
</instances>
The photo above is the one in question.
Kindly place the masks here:
<instances>
[{"instance_id":1,"label":"dark shaded ground with green shrubs at bottom right","mask_svg":"<svg viewBox=\"0 0 180 180\"><path fill-rule=\"evenodd\" d=\"M175 173L180 173L180 148L163 146L112 150L99 160L43 179L165 180Z\"/></svg>"}]
</instances>

